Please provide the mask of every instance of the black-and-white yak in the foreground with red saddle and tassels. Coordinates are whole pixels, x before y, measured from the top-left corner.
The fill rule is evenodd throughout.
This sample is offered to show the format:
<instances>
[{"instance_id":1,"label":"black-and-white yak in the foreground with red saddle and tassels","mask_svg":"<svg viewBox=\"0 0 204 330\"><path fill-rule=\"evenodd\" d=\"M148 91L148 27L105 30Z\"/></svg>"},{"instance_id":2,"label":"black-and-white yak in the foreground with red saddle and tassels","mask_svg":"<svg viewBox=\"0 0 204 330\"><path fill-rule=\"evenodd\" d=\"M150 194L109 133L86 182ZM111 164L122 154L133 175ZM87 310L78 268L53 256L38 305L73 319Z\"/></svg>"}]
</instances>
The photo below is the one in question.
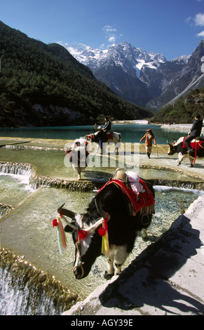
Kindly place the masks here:
<instances>
[{"instance_id":1,"label":"black-and-white yak in the foreground with red saddle and tassels","mask_svg":"<svg viewBox=\"0 0 204 330\"><path fill-rule=\"evenodd\" d=\"M93 197L83 216L64 209L64 204L60 206L53 226L61 230L62 249L66 247L63 220L67 223L64 231L72 232L76 246L73 268L76 279L86 277L101 254L107 256L108 261L104 277L118 275L133 249L137 231L149 227L154 203L151 183L140 179L135 172L116 170L114 177Z\"/></svg>"}]
</instances>

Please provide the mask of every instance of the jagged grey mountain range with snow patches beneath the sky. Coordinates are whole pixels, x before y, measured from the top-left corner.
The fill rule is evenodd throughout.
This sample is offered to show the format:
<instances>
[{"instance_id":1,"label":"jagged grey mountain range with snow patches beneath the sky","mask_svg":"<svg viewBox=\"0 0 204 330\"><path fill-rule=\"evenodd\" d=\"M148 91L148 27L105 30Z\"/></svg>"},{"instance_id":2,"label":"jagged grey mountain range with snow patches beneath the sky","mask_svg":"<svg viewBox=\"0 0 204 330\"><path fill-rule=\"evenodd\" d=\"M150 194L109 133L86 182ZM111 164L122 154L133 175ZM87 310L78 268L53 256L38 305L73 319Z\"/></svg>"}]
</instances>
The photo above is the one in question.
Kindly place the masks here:
<instances>
[{"instance_id":1,"label":"jagged grey mountain range with snow patches beneath the sky","mask_svg":"<svg viewBox=\"0 0 204 330\"><path fill-rule=\"evenodd\" d=\"M199 80L202 74L200 70L200 56L204 55L202 41L198 46L200 51L195 50L192 55L183 55L170 61L161 53L147 53L126 41L112 45L104 51L77 43L73 46L67 44L62 46L67 48L76 60L87 65L95 77L107 84L116 95L153 109L158 109L177 97L191 85L192 80ZM197 71L195 65L198 67ZM188 77L186 70L191 72L187 74ZM185 82L180 80L177 85L181 77ZM199 84L202 84L202 81L199 80ZM195 86L198 87L199 84Z\"/></svg>"}]
</instances>

